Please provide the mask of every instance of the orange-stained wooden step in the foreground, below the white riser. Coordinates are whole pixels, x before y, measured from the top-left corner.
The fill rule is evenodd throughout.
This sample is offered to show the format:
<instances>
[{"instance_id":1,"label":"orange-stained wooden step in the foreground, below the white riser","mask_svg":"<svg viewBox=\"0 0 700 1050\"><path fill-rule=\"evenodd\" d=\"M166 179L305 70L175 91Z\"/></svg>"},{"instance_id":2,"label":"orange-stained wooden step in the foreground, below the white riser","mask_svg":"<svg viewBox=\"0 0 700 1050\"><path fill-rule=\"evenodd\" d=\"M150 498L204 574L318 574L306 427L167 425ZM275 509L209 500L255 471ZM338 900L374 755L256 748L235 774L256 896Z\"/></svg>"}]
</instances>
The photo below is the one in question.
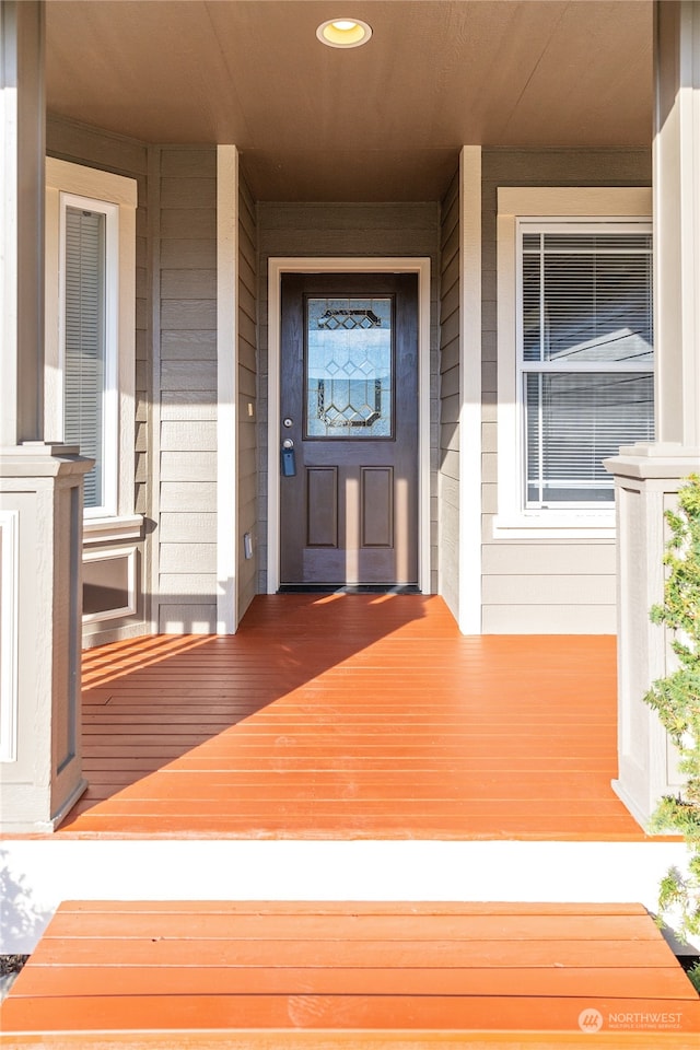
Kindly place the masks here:
<instances>
[{"instance_id":1,"label":"orange-stained wooden step in the foreground, below the white riser","mask_svg":"<svg viewBox=\"0 0 700 1050\"><path fill-rule=\"evenodd\" d=\"M476 1034L529 1046L512 1041L525 1034L680 1050L698 1045L700 1000L638 905L69 902L2 1026L42 1046L129 1030L209 1046L192 1032L210 1029L235 1047L298 1047L300 1034L389 1046L380 1036L400 1032L417 1047Z\"/></svg>"}]
</instances>

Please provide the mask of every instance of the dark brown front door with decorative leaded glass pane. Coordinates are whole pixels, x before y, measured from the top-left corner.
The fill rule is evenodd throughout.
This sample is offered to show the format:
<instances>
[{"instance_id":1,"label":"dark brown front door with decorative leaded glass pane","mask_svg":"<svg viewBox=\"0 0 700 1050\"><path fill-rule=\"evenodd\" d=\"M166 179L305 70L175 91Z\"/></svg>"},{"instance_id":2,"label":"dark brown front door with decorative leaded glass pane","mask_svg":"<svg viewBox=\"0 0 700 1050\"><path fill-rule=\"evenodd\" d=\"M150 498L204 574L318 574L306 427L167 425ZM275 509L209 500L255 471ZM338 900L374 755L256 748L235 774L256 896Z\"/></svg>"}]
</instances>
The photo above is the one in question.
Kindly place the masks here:
<instances>
[{"instance_id":1,"label":"dark brown front door with decorative leaded glass pane","mask_svg":"<svg viewBox=\"0 0 700 1050\"><path fill-rule=\"evenodd\" d=\"M282 586L416 585L417 278L287 275L281 336Z\"/></svg>"}]
</instances>

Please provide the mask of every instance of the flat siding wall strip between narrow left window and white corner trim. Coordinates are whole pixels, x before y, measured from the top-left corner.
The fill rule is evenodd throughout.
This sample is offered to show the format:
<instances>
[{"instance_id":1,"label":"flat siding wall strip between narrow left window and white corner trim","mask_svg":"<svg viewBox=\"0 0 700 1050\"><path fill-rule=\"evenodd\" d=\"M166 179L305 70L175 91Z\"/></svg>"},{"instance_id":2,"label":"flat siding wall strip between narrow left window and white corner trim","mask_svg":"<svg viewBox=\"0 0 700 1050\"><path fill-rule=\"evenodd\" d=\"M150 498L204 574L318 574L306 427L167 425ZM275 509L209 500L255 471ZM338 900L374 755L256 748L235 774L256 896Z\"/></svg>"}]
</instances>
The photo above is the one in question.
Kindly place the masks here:
<instances>
[{"instance_id":1,"label":"flat siding wall strip between narrow left window and white corner trim","mask_svg":"<svg viewBox=\"0 0 700 1050\"><path fill-rule=\"evenodd\" d=\"M217 151L152 147L158 631L217 630Z\"/></svg>"}]
</instances>

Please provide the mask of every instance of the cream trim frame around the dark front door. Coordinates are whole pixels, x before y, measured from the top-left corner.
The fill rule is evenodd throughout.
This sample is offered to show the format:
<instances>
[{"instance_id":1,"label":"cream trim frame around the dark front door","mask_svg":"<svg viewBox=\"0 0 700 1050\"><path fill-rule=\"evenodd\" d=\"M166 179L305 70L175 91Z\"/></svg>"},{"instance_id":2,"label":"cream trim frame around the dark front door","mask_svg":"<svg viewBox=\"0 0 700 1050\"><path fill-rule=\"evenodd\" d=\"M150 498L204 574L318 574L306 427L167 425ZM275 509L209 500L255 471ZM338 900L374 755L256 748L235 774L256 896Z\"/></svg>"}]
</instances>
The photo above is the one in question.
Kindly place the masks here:
<instances>
[{"instance_id":1,"label":"cream trim frame around the dark front door","mask_svg":"<svg viewBox=\"0 0 700 1050\"><path fill-rule=\"evenodd\" d=\"M430 594L430 258L270 258L268 260L267 593L280 585L280 343L284 273L418 275L418 585Z\"/></svg>"}]
</instances>

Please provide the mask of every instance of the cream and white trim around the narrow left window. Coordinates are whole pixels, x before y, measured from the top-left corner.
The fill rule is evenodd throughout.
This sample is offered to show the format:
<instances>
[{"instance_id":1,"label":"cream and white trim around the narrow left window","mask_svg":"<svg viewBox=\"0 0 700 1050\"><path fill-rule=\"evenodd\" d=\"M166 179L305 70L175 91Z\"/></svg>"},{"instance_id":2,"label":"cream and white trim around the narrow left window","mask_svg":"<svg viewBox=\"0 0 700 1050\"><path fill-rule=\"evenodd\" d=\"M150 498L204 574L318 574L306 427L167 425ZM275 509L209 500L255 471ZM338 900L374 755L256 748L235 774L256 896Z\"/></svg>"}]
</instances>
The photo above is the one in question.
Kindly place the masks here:
<instances>
[{"instance_id":1,"label":"cream and white trim around the narrow left window","mask_svg":"<svg viewBox=\"0 0 700 1050\"><path fill-rule=\"evenodd\" d=\"M133 513L136 359L136 179L47 158L46 397L47 440L62 440L63 214L78 205L107 215L107 383L105 505L88 508L85 540L126 538L140 530Z\"/></svg>"}]
</instances>

